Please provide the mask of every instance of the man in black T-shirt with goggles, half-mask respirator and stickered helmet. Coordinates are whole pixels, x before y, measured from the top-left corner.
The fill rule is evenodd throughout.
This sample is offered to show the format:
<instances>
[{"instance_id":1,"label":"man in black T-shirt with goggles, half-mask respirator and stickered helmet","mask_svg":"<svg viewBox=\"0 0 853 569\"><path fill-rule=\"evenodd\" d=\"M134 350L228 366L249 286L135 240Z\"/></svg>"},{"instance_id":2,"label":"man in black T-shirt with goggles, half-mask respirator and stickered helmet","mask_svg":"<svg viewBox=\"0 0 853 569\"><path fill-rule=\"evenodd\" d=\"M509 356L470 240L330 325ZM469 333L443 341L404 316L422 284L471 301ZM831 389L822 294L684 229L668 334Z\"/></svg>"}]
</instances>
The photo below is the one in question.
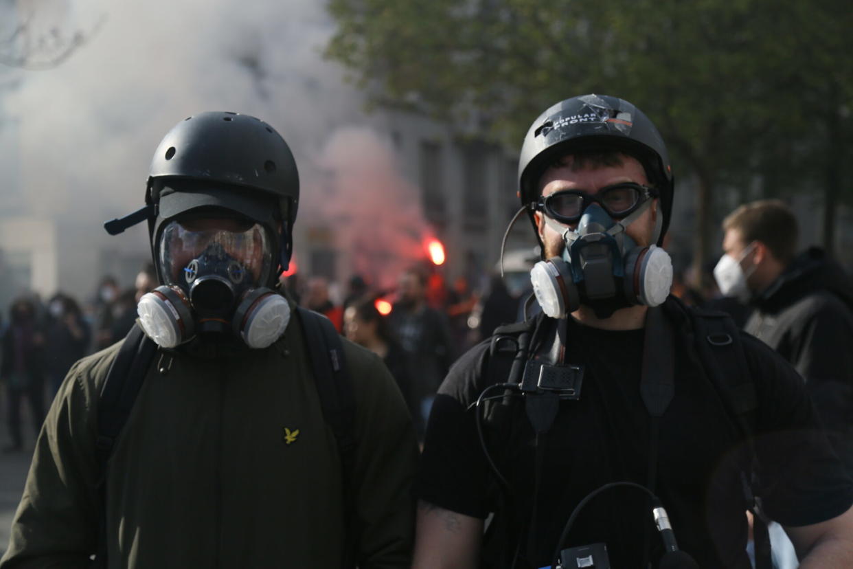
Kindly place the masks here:
<instances>
[{"instance_id":1,"label":"man in black T-shirt with goggles, half-mask respirator and stickered helmet","mask_svg":"<svg viewBox=\"0 0 853 569\"><path fill-rule=\"evenodd\" d=\"M611 96L548 108L519 196L543 314L498 328L439 389L415 568L747 569L746 510L759 569L768 519L803 567L853 564L853 482L802 380L669 296L673 178L647 116Z\"/></svg>"}]
</instances>

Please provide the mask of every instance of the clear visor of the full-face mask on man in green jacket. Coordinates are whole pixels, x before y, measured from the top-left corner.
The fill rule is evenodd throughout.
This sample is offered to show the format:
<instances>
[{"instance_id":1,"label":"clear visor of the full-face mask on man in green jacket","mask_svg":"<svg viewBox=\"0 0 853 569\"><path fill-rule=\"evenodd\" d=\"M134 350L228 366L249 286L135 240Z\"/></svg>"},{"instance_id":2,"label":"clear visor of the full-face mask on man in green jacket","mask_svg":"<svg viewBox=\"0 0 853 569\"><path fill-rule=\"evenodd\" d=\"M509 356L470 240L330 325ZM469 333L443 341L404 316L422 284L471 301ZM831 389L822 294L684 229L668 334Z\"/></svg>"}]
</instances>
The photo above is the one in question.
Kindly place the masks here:
<instances>
[{"instance_id":1,"label":"clear visor of the full-face mask on man in green jacket","mask_svg":"<svg viewBox=\"0 0 853 569\"><path fill-rule=\"evenodd\" d=\"M270 240L261 224L249 220L174 220L166 224L159 243L160 268L167 285L185 286L188 275L194 270L194 260L212 251L216 251L223 262L229 263L229 276L234 282L245 278L258 284L266 282L270 276ZM231 275L231 272L235 274Z\"/></svg>"}]
</instances>

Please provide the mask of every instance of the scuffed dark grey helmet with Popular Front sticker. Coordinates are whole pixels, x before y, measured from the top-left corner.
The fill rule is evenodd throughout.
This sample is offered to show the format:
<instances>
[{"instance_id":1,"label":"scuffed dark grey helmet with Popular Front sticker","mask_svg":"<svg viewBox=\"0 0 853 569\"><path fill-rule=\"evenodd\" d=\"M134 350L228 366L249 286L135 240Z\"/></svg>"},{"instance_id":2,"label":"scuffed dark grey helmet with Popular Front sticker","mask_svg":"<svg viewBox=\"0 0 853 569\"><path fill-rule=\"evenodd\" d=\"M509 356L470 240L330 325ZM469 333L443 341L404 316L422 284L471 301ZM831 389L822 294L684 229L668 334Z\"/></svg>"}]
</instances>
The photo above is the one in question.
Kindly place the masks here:
<instances>
[{"instance_id":1,"label":"scuffed dark grey helmet with Popular Front sticker","mask_svg":"<svg viewBox=\"0 0 853 569\"><path fill-rule=\"evenodd\" d=\"M519 197L527 205L538 197L543 171L573 150L618 150L639 160L658 189L664 239L672 213L670 157L658 129L642 111L614 96L583 95L549 107L527 131L519 157ZM531 220L533 212L529 212Z\"/></svg>"}]
</instances>

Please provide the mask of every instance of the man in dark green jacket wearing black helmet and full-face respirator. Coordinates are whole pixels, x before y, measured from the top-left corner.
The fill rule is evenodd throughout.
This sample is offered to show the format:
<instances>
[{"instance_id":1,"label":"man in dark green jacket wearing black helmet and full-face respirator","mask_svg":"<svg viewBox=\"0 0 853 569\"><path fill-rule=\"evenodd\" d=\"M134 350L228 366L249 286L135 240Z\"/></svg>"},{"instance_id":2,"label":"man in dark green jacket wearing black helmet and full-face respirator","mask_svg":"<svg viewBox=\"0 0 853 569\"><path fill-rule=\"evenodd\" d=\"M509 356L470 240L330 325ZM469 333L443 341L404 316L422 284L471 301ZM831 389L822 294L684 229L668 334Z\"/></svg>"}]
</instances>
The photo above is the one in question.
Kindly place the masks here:
<instances>
[{"instance_id":1,"label":"man in dark green jacket wearing black helmet and full-face respirator","mask_svg":"<svg viewBox=\"0 0 853 569\"><path fill-rule=\"evenodd\" d=\"M299 177L259 119L200 113L154 154L160 286L76 363L0 566L407 567L417 444L371 352L276 285ZM328 331L331 328L331 333Z\"/></svg>"}]
</instances>

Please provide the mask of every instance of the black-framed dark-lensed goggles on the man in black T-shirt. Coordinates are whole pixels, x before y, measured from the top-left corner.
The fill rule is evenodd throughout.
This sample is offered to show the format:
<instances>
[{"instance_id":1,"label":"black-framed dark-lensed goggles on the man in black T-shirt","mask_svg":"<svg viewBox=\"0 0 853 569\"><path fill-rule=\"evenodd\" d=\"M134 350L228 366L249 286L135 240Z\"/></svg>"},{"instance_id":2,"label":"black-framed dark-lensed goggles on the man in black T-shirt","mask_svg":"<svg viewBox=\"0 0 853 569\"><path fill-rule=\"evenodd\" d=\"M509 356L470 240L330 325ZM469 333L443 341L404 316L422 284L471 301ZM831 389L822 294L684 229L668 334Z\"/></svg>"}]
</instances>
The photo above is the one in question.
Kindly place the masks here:
<instances>
[{"instance_id":1,"label":"black-framed dark-lensed goggles on the man in black T-shirt","mask_svg":"<svg viewBox=\"0 0 853 569\"><path fill-rule=\"evenodd\" d=\"M563 224L575 224L584 210L595 201L611 218L624 218L650 198L658 197L657 189L639 183L615 183L588 194L578 189L564 189L541 197L533 208Z\"/></svg>"}]
</instances>

